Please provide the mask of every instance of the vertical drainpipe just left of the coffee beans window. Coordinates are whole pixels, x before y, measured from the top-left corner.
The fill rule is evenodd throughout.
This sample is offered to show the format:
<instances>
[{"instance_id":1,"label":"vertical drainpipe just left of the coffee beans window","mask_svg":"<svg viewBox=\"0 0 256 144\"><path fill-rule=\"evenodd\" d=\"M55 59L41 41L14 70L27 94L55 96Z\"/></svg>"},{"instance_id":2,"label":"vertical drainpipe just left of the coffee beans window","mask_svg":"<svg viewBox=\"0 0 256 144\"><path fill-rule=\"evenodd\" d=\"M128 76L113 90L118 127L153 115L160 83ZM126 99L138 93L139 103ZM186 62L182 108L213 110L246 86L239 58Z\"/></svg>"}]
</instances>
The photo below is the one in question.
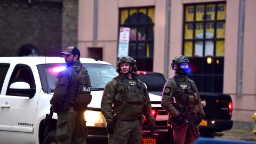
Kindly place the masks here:
<instances>
[{"instance_id":1,"label":"vertical drainpipe just left of the coffee beans window","mask_svg":"<svg viewBox=\"0 0 256 144\"><path fill-rule=\"evenodd\" d=\"M165 43L164 43L164 76L169 77L169 52L170 52L170 19L171 19L171 0L166 0L165 14Z\"/></svg>"}]
</instances>

